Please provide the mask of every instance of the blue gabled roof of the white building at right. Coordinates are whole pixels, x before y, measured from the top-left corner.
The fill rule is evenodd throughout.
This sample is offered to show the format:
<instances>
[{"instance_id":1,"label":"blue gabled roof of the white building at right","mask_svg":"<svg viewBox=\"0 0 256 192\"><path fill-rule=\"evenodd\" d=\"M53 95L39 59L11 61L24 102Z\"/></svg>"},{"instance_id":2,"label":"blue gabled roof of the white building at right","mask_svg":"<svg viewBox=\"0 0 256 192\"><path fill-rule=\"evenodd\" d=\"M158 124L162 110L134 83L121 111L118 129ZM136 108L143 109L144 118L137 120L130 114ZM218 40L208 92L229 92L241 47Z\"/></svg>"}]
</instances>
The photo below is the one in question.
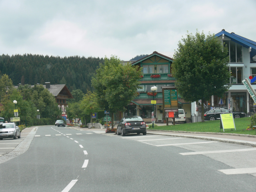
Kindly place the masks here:
<instances>
[{"instance_id":1,"label":"blue gabled roof of the white building at right","mask_svg":"<svg viewBox=\"0 0 256 192\"><path fill-rule=\"evenodd\" d=\"M228 33L224 29L221 32L215 34L215 36L220 37L223 34L224 34L224 36L230 38L232 41L234 41L234 42L236 42L236 43L238 43L238 44L240 44L240 45L242 45L246 48L251 47L252 51L250 52L250 57L254 57L256 55L256 42L254 42L250 39L246 39L242 36L239 36L239 35L235 34L234 32Z\"/></svg>"}]
</instances>

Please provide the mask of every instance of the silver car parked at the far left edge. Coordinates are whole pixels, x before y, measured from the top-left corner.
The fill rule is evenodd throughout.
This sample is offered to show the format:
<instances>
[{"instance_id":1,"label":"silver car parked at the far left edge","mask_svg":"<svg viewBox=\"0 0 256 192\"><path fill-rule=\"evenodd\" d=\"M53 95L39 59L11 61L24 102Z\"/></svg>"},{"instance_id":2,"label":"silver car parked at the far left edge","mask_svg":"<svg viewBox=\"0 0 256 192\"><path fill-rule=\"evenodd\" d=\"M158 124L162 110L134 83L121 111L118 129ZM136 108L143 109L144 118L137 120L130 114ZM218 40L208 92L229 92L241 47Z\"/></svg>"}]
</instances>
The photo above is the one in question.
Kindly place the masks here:
<instances>
[{"instance_id":1,"label":"silver car parked at the far left edge","mask_svg":"<svg viewBox=\"0 0 256 192\"><path fill-rule=\"evenodd\" d=\"M16 123L3 123L0 124L0 140L5 138L20 138L20 128Z\"/></svg>"}]
</instances>

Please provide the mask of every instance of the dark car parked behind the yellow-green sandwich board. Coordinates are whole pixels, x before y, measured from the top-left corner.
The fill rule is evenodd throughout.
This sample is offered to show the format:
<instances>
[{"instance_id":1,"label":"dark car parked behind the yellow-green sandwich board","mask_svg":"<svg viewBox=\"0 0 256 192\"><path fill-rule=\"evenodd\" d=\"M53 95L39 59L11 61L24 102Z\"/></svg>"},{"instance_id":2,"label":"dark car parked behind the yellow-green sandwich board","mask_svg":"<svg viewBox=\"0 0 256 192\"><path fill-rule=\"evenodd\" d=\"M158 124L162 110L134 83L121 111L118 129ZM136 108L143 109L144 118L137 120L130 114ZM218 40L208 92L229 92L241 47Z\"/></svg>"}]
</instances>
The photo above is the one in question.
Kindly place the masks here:
<instances>
[{"instance_id":1,"label":"dark car parked behind the yellow-green sandwich board","mask_svg":"<svg viewBox=\"0 0 256 192\"><path fill-rule=\"evenodd\" d=\"M224 108L215 108L215 109L206 111L206 113L204 114L204 120L214 121L216 119L220 119L220 114L225 114L225 113L232 113L234 118L245 117L244 112L230 111Z\"/></svg>"}]
</instances>

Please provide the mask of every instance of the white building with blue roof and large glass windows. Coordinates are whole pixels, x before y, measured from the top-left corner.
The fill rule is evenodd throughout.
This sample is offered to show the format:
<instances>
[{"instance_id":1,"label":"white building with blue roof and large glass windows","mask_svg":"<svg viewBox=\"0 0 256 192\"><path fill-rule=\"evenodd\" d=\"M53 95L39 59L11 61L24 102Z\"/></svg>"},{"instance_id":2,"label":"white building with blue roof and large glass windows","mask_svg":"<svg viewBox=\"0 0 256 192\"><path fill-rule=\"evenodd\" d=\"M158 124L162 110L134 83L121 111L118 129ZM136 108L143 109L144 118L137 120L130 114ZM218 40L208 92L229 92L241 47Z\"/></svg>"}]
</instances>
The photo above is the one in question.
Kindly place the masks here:
<instances>
[{"instance_id":1,"label":"white building with blue roof and large glass windows","mask_svg":"<svg viewBox=\"0 0 256 192\"><path fill-rule=\"evenodd\" d=\"M256 113L256 105L242 83L242 80L247 78L250 82L256 76L256 42L239 36L234 32L229 33L224 29L215 34L224 45L228 46L229 51L229 68L231 77L230 84L232 85L223 97L212 96L210 100L204 103L205 112L212 107L228 108L233 111L245 112L247 114ZM252 79L252 87L256 89L256 81ZM223 104L220 105L220 99ZM230 106L230 102L232 106ZM194 102L191 105L192 122L196 119L193 116L200 114L200 102ZM196 109L199 109L198 112Z\"/></svg>"}]
</instances>

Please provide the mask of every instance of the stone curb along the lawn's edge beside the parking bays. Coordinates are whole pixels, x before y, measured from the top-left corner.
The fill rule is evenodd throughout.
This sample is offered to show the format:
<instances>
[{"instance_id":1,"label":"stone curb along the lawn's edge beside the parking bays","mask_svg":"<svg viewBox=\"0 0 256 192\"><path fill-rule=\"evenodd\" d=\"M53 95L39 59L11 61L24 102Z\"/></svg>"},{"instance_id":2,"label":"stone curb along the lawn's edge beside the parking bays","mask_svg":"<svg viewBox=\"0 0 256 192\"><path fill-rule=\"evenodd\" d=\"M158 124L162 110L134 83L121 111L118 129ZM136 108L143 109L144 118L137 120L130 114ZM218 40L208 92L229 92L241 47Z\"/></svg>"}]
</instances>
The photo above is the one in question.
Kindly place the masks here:
<instances>
[{"instance_id":1,"label":"stone curb along the lawn's edge beside the parking bays","mask_svg":"<svg viewBox=\"0 0 256 192\"><path fill-rule=\"evenodd\" d=\"M186 133L188 133L188 132L186 132ZM195 132L193 132L193 133L195 133ZM220 138L214 138L214 137L180 135L180 134L150 133L150 132L147 132L147 134L162 135L162 136L172 136L172 137L184 137L184 138L193 138L193 139L202 139L202 140L218 141L218 142L225 142L225 143L232 143L232 144L256 147L256 142L246 142L246 141L242 141L242 140L220 139Z\"/></svg>"}]
</instances>

